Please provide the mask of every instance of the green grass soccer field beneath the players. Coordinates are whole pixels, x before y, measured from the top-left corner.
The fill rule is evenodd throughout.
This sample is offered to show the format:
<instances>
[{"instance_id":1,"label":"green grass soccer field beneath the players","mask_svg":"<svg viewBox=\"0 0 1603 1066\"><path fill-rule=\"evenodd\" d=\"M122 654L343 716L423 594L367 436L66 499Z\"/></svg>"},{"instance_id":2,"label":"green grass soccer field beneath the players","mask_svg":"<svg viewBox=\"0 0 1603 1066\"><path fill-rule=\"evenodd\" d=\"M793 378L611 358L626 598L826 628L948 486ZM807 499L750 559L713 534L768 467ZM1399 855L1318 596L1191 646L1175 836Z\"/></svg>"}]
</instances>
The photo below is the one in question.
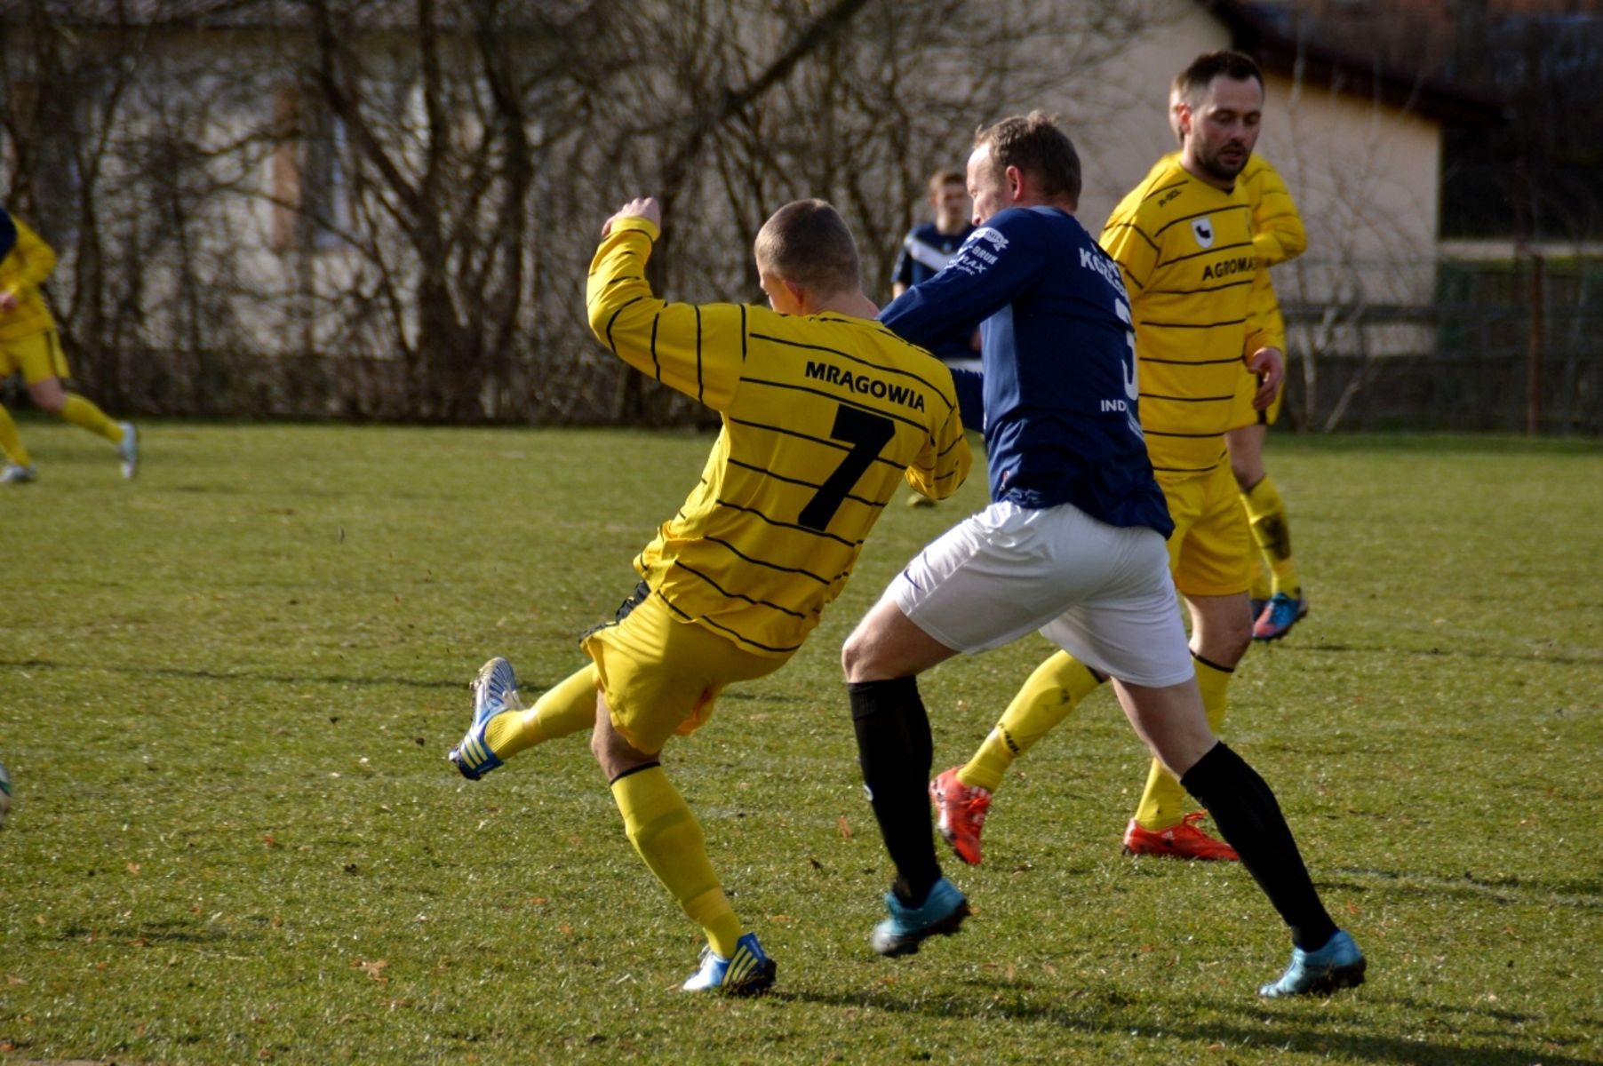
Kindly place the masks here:
<instances>
[{"instance_id":1,"label":"green grass soccer field beneath the players","mask_svg":"<svg viewBox=\"0 0 1603 1066\"><path fill-rule=\"evenodd\" d=\"M0 494L0 1060L130 1063L1603 1061L1603 447L1274 438L1313 614L1226 734L1276 787L1363 989L1265 1003L1239 867L1119 854L1146 758L1106 692L992 806L976 917L867 947L888 866L838 673L906 558L891 507L811 644L667 765L774 994L676 991L696 930L585 737L444 761L491 654L526 692L633 587L707 436L146 426L141 479L26 422ZM1031 638L923 683L936 765Z\"/></svg>"}]
</instances>

